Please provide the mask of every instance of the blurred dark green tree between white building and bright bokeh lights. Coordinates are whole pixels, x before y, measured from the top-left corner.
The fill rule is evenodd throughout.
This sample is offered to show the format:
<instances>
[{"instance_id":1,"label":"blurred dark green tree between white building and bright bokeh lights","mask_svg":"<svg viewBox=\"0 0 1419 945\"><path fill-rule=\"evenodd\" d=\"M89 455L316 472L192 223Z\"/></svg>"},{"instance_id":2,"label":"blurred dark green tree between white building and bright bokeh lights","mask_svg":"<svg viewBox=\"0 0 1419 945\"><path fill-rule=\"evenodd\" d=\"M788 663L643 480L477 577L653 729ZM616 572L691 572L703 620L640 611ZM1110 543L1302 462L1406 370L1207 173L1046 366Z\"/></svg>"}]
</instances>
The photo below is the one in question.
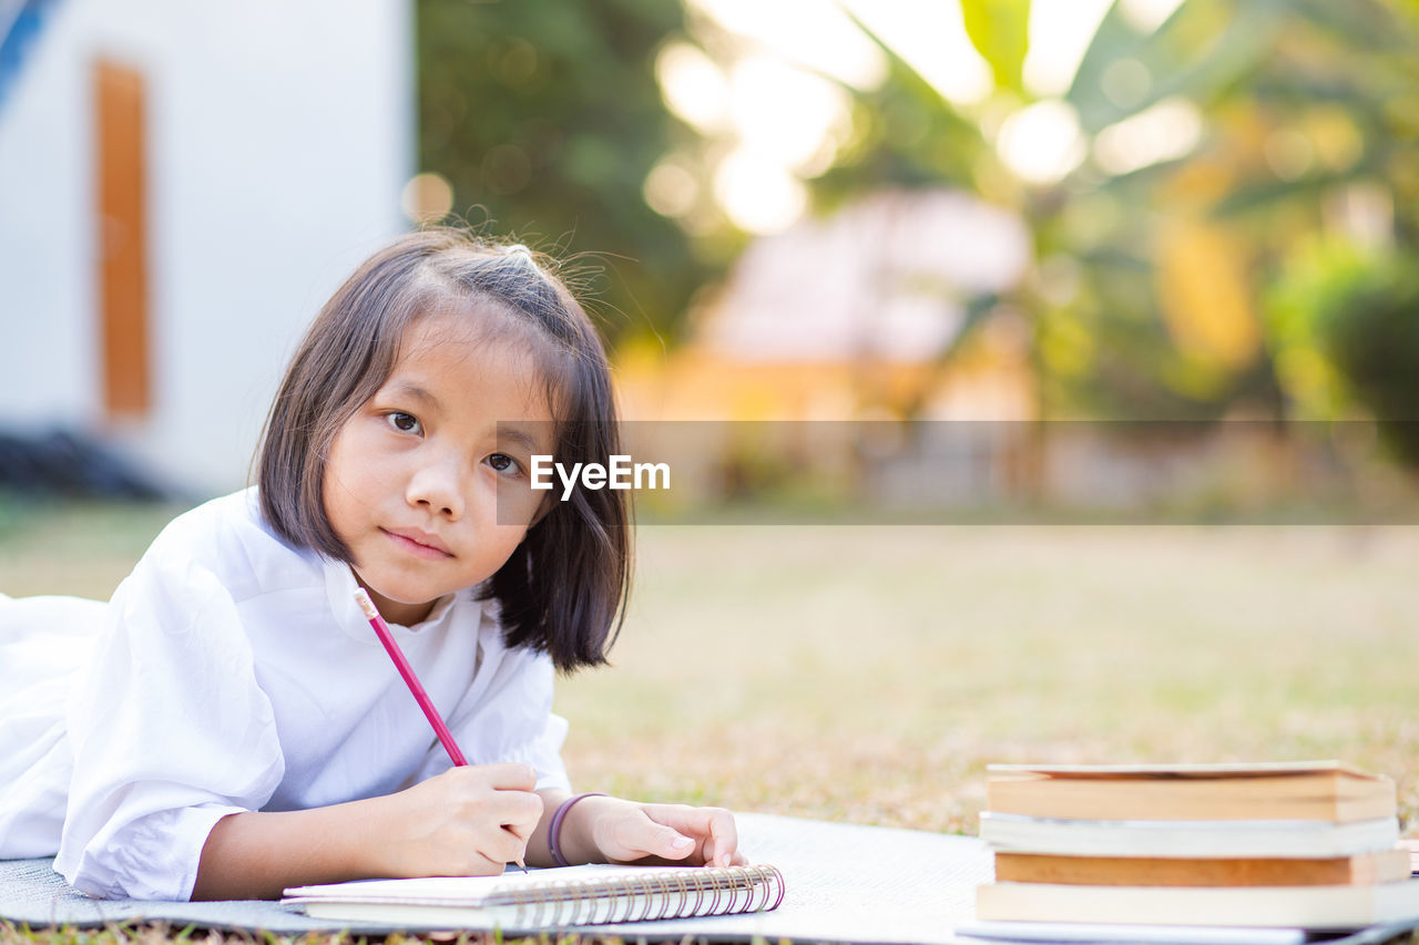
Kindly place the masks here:
<instances>
[{"instance_id":1,"label":"blurred dark green tree between white building and bright bokeh lights","mask_svg":"<svg viewBox=\"0 0 1419 945\"><path fill-rule=\"evenodd\" d=\"M674 129L654 55L683 28L678 0L417 4L420 167L448 179L473 226L595 254L606 275L579 288L613 341L673 336L705 278L643 196Z\"/></svg>"}]
</instances>

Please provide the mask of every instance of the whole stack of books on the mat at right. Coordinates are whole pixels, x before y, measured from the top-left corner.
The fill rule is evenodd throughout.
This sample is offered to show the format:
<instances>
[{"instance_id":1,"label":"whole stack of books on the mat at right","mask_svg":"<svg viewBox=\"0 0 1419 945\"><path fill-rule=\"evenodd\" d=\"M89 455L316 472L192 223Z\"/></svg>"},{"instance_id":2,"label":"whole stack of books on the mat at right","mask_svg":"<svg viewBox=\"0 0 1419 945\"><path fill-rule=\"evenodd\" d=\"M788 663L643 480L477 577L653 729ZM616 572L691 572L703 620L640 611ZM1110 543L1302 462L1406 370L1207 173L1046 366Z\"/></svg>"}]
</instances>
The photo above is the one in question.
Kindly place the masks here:
<instances>
[{"instance_id":1,"label":"whole stack of books on the mat at right","mask_svg":"<svg viewBox=\"0 0 1419 945\"><path fill-rule=\"evenodd\" d=\"M988 921L1345 929L1419 919L1395 785L1340 762L990 765Z\"/></svg>"}]
</instances>

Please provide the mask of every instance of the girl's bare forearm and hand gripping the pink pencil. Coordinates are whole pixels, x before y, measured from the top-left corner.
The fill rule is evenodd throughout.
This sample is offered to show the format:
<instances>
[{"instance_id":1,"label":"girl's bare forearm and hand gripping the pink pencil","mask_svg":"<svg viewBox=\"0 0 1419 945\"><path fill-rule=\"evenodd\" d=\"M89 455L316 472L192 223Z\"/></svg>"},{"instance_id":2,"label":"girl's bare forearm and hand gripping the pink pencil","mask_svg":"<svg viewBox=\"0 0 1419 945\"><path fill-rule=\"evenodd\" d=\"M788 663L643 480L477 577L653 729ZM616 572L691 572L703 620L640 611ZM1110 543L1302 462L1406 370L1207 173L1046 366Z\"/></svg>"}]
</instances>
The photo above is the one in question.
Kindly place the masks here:
<instances>
[{"instance_id":1,"label":"girl's bare forearm and hand gripping the pink pencil","mask_svg":"<svg viewBox=\"0 0 1419 945\"><path fill-rule=\"evenodd\" d=\"M454 768L407 790L329 807L247 812L217 822L193 900L280 898L309 883L497 875L542 819L526 765Z\"/></svg>"}]
</instances>

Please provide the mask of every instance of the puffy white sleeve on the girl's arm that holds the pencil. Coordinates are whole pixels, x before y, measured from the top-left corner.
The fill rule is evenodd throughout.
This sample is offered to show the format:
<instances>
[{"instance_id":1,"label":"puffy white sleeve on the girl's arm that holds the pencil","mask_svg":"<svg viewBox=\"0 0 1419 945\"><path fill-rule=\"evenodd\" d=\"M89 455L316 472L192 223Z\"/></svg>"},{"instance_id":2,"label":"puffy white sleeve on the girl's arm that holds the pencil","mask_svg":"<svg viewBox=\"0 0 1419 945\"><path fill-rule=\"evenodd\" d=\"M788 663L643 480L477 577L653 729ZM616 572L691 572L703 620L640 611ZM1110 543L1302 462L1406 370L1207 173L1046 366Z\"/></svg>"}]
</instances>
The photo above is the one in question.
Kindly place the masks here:
<instances>
[{"instance_id":1,"label":"puffy white sleeve on the girl's arm that holds the pencil","mask_svg":"<svg viewBox=\"0 0 1419 945\"><path fill-rule=\"evenodd\" d=\"M89 895L187 900L213 824L260 809L284 773L231 595L190 560L149 555L81 680L55 868Z\"/></svg>"}]
</instances>

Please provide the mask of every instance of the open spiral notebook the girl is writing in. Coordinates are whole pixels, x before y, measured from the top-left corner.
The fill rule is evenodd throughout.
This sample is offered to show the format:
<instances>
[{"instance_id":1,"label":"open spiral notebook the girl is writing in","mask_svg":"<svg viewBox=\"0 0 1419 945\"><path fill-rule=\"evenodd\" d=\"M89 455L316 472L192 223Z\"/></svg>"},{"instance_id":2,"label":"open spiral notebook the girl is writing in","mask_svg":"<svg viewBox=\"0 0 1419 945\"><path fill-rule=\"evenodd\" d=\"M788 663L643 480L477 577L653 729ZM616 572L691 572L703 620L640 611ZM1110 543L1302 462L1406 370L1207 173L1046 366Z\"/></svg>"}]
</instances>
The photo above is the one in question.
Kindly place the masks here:
<instances>
[{"instance_id":1,"label":"open spiral notebook the girl is writing in","mask_svg":"<svg viewBox=\"0 0 1419 945\"><path fill-rule=\"evenodd\" d=\"M322 919L446 928L543 929L762 912L783 901L771 866L579 866L498 877L301 885L282 902Z\"/></svg>"}]
</instances>

